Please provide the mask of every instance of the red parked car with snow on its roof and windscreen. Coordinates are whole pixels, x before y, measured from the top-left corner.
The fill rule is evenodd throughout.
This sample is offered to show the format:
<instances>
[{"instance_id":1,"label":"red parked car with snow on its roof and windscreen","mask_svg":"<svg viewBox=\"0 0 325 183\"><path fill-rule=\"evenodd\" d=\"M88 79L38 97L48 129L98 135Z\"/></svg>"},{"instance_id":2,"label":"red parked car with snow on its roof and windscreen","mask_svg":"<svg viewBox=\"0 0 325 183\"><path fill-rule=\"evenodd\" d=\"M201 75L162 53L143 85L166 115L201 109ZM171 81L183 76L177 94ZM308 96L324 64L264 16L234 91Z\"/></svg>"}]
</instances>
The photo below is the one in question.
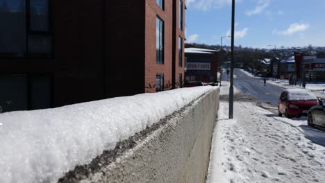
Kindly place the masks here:
<instances>
[{"instance_id":1,"label":"red parked car with snow on its roof and windscreen","mask_svg":"<svg viewBox=\"0 0 325 183\"><path fill-rule=\"evenodd\" d=\"M278 99L278 116L307 116L311 107L318 105L317 97L308 89L285 89Z\"/></svg>"}]
</instances>

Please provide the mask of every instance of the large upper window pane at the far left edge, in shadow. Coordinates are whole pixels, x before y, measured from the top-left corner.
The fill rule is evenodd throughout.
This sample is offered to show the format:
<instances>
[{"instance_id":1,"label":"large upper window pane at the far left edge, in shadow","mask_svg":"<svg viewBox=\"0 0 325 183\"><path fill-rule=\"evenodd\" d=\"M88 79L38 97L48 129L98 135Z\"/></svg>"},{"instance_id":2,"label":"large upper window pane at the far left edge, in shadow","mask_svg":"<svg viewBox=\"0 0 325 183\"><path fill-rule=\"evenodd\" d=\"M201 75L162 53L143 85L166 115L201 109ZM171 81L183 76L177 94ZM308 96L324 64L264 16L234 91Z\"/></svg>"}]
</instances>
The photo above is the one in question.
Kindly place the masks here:
<instances>
[{"instance_id":1,"label":"large upper window pane at the far left edge, in shadow","mask_svg":"<svg viewBox=\"0 0 325 183\"><path fill-rule=\"evenodd\" d=\"M0 0L0 55L22 57L26 51L24 0Z\"/></svg>"}]
</instances>

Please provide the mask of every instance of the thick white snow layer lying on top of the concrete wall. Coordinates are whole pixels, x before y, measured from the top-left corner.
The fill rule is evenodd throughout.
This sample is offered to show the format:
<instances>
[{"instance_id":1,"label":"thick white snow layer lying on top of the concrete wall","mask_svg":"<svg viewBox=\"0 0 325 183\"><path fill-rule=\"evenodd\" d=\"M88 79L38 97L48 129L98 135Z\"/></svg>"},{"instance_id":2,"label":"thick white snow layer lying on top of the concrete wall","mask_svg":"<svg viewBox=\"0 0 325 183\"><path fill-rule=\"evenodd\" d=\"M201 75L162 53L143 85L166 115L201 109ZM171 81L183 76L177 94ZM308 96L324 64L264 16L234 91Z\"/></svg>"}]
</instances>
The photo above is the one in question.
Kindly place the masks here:
<instances>
[{"instance_id":1,"label":"thick white snow layer lying on top of the concrete wall","mask_svg":"<svg viewBox=\"0 0 325 183\"><path fill-rule=\"evenodd\" d=\"M0 182L57 182L216 87L0 114Z\"/></svg>"}]
</instances>

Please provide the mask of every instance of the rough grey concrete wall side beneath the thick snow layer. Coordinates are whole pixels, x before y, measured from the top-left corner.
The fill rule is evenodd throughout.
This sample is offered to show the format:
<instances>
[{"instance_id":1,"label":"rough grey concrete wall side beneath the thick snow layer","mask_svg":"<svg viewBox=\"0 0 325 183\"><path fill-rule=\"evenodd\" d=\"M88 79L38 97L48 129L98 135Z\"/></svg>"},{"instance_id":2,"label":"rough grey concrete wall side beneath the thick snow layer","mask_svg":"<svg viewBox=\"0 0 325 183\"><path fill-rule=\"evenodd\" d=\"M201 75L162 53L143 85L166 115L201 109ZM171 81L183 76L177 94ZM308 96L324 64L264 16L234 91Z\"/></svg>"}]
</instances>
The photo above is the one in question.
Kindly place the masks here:
<instances>
[{"instance_id":1,"label":"rough grey concrete wall side beneath the thick snow layer","mask_svg":"<svg viewBox=\"0 0 325 183\"><path fill-rule=\"evenodd\" d=\"M206 182L218 107L219 88L167 116L113 162L86 176L70 175L81 180L63 182Z\"/></svg>"}]
</instances>

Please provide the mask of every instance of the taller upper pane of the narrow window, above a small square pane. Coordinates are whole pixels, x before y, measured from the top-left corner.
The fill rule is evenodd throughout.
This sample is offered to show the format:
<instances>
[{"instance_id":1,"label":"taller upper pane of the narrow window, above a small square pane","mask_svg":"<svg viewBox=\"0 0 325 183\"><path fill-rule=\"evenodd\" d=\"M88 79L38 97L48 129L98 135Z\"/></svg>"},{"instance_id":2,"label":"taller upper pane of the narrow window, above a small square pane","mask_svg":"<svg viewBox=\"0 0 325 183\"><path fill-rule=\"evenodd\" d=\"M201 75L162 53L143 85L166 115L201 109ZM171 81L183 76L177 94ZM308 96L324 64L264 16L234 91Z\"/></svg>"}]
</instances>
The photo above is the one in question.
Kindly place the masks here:
<instances>
[{"instance_id":1,"label":"taller upper pane of the narrow window, above a small square pane","mask_svg":"<svg viewBox=\"0 0 325 183\"><path fill-rule=\"evenodd\" d=\"M49 31L49 0L31 1L31 31Z\"/></svg>"}]
</instances>

